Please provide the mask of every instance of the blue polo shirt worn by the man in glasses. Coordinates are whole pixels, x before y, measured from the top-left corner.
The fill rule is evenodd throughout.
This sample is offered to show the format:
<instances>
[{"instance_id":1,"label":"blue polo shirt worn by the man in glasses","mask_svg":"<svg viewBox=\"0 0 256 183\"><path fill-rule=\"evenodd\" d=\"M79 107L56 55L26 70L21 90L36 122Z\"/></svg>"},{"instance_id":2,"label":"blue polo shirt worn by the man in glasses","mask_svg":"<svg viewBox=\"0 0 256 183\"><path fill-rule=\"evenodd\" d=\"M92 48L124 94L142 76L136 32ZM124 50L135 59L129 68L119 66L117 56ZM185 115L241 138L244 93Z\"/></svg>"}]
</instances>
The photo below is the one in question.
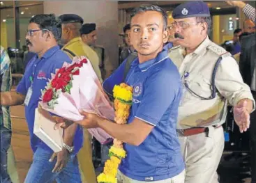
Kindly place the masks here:
<instances>
[{"instance_id":1,"label":"blue polo shirt worn by the man in glasses","mask_svg":"<svg viewBox=\"0 0 256 183\"><path fill-rule=\"evenodd\" d=\"M52 152L52 149L33 134L35 109L38 107L38 102L40 102L41 90L45 89L47 81L49 81L48 79L51 79L51 73L55 73L55 70L62 67L64 62L71 63L71 60L67 54L59 49L59 46L48 49L41 58L38 58L37 55L34 56L31 58L31 61L29 61L24 77L22 77L22 80L17 86L17 93L21 93L22 95L27 95L29 87L32 87L31 99L29 104L25 105L25 116L29 127L30 143L33 152L35 152L38 147ZM30 77L33 78L33 83L30 81ZM77 127L77 132L74 137L74 153L80 150L82 143L82 128Z\"/></svg>"}]
</instances>

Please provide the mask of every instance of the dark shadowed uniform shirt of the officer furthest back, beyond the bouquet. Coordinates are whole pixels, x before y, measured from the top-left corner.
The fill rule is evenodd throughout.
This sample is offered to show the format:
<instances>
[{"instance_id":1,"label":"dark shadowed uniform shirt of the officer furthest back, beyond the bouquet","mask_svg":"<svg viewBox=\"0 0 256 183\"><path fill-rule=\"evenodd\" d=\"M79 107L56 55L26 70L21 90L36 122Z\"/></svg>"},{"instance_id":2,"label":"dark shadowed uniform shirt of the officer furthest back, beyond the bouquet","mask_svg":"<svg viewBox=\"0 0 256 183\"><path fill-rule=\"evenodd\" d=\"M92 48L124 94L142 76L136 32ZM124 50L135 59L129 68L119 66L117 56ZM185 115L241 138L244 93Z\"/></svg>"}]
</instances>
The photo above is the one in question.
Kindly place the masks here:
<instances>
[{"instance_id":1,"label":"dark shadowed uniform shirt of the officer furthest back, beyond the bouquet","mask_svg":"<svg viewBox=\"0 0 256 183\"><path fill-rule=\"evenodd\" d=\"M106 49L99 46L91 46L91 49L96 52L99 58L99 67L101 70L101 76L103 78L109 77L110 74L113 72L112 63L110 63L110 58L108 57L106 53ZM104 53L103 53L104 50ZM104 55L103 55L104 54Z\"/></svg>"}]
</instances>

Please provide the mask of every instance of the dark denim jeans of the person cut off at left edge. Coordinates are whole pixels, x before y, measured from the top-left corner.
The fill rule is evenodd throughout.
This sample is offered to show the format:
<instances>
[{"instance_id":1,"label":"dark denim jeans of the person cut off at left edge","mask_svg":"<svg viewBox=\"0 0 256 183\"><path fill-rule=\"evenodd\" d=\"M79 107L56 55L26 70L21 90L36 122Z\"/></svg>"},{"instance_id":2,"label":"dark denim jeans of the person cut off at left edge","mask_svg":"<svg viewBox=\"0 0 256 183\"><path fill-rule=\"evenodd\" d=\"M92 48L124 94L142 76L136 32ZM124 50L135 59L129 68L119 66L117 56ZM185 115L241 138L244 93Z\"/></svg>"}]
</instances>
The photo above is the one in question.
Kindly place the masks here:
<instances>
[{"instance_id":1,"label":"dark denim jeans of the person cut off at left edge","mask_svg":"<svg viewBox=\"0 0 256 183\"><path fill-rule=\"evenodd\" d=\"M1 125L0 128L0 147L1 147L1 161L0 161L0 183L10 183L10 176L8 175L7 171L7 152L10 148L10 139L11 139L12 133L10 129L7 129L6 127L3 127Z\"/></svg>"}]
</instances>

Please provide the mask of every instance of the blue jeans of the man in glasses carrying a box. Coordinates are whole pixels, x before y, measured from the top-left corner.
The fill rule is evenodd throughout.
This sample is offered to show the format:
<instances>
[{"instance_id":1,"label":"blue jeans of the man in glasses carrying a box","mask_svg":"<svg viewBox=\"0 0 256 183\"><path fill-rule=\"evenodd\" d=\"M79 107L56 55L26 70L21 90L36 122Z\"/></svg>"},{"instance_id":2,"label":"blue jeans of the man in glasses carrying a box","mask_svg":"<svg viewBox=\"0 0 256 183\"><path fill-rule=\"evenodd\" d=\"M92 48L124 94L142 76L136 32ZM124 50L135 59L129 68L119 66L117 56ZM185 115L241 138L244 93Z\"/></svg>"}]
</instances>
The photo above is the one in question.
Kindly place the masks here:
<instances>
[{"instance_id":1,"label":"blue jeans of the man in glasses carrying a box","mask_svg":"<svg viewBox=\"0 0 256 183\"><path fill-rule=\"evenodd\" d=\"M43 148L37 148L33 154L33 163L29 168L25 183L52 183L57 180L58 183L80 183L81 177L78 168L78 161L75 155L71 155L68 164L59 173L52 173L57 158L49 162L52 152Z\"/></svg>"}]
</instances>

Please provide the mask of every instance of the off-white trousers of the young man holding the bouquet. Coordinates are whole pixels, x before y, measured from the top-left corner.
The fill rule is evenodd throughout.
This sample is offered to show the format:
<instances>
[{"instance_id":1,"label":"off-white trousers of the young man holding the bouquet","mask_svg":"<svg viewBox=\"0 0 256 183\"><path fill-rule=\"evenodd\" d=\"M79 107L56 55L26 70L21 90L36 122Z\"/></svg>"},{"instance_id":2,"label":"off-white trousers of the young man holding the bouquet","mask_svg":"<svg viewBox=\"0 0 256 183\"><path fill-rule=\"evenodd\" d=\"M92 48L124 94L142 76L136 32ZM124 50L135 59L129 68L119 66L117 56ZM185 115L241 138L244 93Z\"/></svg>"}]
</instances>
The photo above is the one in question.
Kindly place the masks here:
<instances>
[{"instance_id":1,"label":"off-white trousers of the young man holding the bouquet","mask_svg":"<svg viewBox=\"0 0 256 183\"><path fill-rule=\"evenodd\" d=\"M117 183L148 183L149 181L138 181L133 180L127 177L126 175L123 175L121 171L118 170L117 172ZM175 177L172 177L167 180L158 180L158 181L150 181L151 183L184 183L185 178L185 170L183 170L179 175L176 175Z\"/></svg>"}]
</instances>

